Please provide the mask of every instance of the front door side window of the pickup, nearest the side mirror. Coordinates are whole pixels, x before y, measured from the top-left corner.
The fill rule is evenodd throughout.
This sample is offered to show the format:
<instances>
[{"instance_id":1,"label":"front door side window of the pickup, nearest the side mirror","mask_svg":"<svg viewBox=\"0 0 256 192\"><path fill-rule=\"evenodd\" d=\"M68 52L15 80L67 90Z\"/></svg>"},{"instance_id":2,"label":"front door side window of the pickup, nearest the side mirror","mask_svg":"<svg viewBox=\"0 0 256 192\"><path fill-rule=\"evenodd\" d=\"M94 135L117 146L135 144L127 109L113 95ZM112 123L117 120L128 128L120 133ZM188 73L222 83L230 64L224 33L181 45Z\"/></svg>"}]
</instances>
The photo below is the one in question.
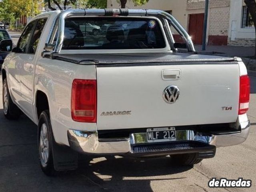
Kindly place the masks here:
<instances>
[{"instance_id":1,"label":"front door side window of the pickup, nearest the side mirror","mask_svg":"<svg viewBox=\"0 0 256 192\"><path fill-rule=\"evenodd\" d=\"M26 28L24 29L24 32L20 36L20 39L19 39L19 42L17 45L18 53L26 53L28 42L29 42L30 36L32 34L35 23L36 23L36 21L33 21L30 24L28 24L28 26L26 26Z\"/></svg>"}]
</instances>

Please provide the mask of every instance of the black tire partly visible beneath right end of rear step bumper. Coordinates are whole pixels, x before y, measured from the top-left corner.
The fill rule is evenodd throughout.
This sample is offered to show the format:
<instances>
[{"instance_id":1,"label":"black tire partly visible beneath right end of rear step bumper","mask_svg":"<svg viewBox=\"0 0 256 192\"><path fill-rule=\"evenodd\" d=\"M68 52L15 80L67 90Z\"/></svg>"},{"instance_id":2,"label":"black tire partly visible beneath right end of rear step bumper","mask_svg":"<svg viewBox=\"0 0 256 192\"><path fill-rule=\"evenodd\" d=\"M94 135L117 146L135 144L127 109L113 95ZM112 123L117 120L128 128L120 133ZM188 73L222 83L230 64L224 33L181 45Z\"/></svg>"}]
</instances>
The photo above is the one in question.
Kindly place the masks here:
<instances>
[{"instance_id":1,"label":"black tire partly visible beneath right end of rear step bumper","mask_svg":"<svg viewBox=\"0 0 256 192\"><path fill-rule=\"evenodd\" d=\"M177 165L194 165L200 163L203 159L198 159L196 153L189 153L189 154L177 154L172 155L172 163Z\"/></svg>"}]
</instances>

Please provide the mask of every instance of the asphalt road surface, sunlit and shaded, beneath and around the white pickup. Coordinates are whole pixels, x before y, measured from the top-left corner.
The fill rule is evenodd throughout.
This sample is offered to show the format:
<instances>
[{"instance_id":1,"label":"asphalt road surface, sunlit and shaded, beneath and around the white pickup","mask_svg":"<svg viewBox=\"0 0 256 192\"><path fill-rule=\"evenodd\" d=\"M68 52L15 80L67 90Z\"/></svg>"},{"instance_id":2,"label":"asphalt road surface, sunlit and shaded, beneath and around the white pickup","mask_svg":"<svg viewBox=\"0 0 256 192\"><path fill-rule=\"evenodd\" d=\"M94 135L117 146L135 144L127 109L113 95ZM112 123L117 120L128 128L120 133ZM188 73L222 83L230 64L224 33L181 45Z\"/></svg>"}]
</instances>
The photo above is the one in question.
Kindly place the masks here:
<instances>
[{"instance_id":1,"label":"asphalt road surface, sunlit and shaded, beneath and around the white pickup","mask_svg":"<svg viewBox=\"0 0 256 192\"><path fill-rule=\"evenodd\" d=\"M2 85L2 77L0 76ZM89 158L79 170L54 178L45 176L37 156L36 125L26 116L17 121L4 118L0 86L0 192L14 191L256 191L256 77L251 77L252 122L246 142L218 148L215 158L194 167L177 167L170 158L128 159ZM213 178L252 180L251 188L208 188Z\"/></svg>"}]
</instances>

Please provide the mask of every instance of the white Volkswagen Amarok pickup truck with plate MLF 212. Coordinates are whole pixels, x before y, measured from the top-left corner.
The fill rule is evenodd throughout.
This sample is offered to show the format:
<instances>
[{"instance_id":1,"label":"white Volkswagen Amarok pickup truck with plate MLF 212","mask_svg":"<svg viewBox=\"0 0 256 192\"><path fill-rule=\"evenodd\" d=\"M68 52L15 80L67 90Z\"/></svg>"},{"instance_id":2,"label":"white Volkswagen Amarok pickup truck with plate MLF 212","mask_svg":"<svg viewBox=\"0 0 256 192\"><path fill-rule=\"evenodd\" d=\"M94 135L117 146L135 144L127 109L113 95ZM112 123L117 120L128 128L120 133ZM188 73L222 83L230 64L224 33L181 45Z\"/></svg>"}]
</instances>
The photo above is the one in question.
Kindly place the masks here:
<instances>
[{"instance_id":1,"label":"white Volkswagen Amarok pickup truck with plate MLF 212","mask_svg":"<svg viewBox=\"0 0 256 192\"><path fill-rule=\"evenodd\" d=\"M108 27L90 35L86 23ZM6 46L10 40L0 42ZM197 54L184 28L160 10L40 14L4 60L2 79L4 115L23 112L38 125L47 175L76 169L79 153L170 155L193 165L216 147L244 142L250 128L242 60Z\"/></svg>"}]
</instances>

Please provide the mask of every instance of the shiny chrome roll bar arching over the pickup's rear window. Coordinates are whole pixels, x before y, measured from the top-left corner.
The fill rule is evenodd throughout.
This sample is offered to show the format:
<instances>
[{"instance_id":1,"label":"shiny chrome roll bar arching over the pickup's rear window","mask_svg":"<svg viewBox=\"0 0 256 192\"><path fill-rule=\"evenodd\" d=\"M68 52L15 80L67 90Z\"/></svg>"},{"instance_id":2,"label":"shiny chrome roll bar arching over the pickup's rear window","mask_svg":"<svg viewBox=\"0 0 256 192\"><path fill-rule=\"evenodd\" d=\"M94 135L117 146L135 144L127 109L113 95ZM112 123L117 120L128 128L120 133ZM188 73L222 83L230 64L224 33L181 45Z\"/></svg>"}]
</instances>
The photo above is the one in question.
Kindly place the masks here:
<instances>
[{"instance_id":1,"label":"shiny chrome roll bar arching over the pickup's rear window","mask_svg":"<svg viewBox=\"0 0 256 192\"><path fill-rule=\"evenodd\" d=\"M64 41L65 19L70 16L155 16L166 19L184 38L188 51L195 51L193 42L181 26L181 24L170 14L161 10L146 10L146 9L69 9L60 13L58 19L58 34L53 53L60 53ZM52 34L53 30L50 32ZM50 46L52 42L48 41ZM53 45L51 45L53 47ZM46 50L46 49L45 49Z\"/></svg>"}]
</instances>

